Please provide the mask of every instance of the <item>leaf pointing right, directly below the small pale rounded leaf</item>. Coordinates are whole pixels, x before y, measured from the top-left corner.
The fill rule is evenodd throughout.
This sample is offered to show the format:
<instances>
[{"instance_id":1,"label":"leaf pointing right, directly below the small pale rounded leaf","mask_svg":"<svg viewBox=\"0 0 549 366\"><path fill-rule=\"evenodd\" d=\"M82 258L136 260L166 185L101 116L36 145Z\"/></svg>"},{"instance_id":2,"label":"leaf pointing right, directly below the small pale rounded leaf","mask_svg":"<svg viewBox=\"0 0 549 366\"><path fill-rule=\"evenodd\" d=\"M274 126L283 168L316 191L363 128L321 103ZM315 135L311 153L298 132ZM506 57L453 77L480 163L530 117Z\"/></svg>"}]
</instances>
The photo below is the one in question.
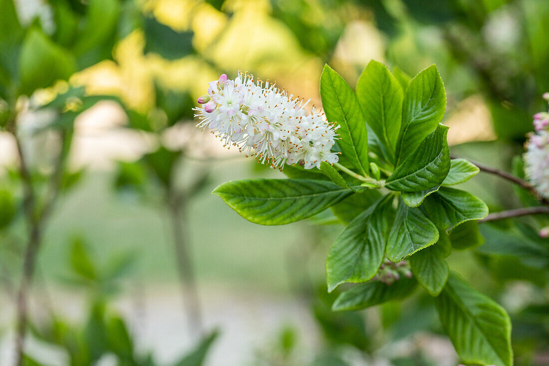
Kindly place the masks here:
<instances>
[{"instance_id":1,"label":"leaf pointing right, directly below the small pale rounded leaf","mask_svg":"<svg viewBox=\"0 0 549 366\"><path fill-rule=\"evenodd\" d=\"M425 198L422 207L438 228L448 231L465 221L480 220L488 215L488 207L480 198L449 187L441 187Z\"/></svg>"}]
</instances>

